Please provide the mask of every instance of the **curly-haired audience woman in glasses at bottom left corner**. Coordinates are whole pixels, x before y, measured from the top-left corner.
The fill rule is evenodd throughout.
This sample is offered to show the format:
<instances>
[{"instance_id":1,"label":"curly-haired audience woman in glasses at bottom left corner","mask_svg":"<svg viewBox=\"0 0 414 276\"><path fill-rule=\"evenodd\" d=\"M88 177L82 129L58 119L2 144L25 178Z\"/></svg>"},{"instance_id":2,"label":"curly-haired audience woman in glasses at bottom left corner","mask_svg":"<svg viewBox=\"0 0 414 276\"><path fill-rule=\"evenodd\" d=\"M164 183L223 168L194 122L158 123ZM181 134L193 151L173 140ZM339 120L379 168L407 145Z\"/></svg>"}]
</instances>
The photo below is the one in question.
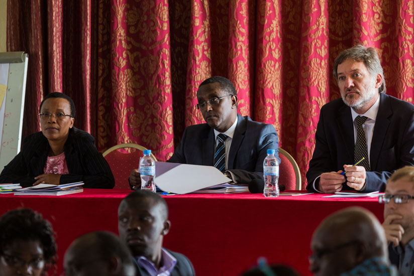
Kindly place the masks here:
<instances>
[{"instance_id":1,"label":"curly-haired audience woman in glasses at bottom left corner","mask_svg":"<svg viewBox=\"0 0 414 276\"><path fill-rule=\"evenodd\" d=\"M0 275L46 275L56 262L52 225L31 209L0 217Z\"/></svg>"}]
</instances>

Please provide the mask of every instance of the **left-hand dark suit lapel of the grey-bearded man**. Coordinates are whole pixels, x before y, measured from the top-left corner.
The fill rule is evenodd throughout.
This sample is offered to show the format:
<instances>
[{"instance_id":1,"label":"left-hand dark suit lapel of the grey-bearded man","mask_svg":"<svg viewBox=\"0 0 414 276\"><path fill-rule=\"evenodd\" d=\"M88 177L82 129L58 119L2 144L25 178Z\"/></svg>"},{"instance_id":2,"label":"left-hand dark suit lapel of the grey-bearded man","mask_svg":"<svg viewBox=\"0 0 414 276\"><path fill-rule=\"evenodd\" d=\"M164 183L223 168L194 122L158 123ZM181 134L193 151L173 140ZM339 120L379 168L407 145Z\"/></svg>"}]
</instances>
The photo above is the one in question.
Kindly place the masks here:
<instances>
[{"instance_id":1,"label":"left-hand dark suit lapel of the grey-bearded man","mask_svg":"<svg viewBox=\"0 0 414 276\"><path fill-rule=\"evenodd\" d=\"M345 104L340 108L339 116L336 119L339 133L342 137L342 140L345 145L345 149L337 149L337 154L344 156L344 150L348 154L348 157L351 160L354 160L354 147L355 147L355 137L354 137L354 125L352 122L351 107L346 106Z\"/></svg>"}]
</instances>

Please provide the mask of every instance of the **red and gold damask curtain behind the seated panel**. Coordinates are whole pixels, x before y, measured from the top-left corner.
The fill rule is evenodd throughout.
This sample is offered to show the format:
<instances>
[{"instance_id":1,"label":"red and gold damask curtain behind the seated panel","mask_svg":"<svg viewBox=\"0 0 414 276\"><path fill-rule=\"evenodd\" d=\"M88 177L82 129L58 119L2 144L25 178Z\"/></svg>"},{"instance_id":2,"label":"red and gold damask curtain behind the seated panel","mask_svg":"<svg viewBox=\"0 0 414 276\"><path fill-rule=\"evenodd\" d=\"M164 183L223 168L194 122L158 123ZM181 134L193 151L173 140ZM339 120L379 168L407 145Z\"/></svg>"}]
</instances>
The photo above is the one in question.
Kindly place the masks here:
<instances>
[{"instance_id":1,"label":"red and gold damask curtain behind the seated panel","mask_svg":"<svg viewBox=\"0 0 414 276\"><path fill-rule=\"evenodd\" d=\"M43 96L62 91L99 150L137 143L166 160L203 122L198 85L222 75L242 115L275 126L304 180L320 108L340 97L336 56L375 47L387 93L413 102L413 30L402 0L9 0L7 45L29 53L26 135Z\"/></svg>"}]
</instances>

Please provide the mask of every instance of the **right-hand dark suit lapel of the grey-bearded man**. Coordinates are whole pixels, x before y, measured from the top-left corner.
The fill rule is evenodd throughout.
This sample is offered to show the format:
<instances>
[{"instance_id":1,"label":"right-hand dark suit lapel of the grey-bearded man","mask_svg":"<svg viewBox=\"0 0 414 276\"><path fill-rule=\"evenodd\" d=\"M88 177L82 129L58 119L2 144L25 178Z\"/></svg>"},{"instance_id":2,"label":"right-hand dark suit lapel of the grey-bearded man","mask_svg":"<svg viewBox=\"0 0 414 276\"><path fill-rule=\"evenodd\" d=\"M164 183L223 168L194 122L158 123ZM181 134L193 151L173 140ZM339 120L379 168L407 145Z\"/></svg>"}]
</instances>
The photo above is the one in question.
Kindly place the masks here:
<instances>
[{"instance_id":1,"label":"right-hand dark suit lapel of the grey-bearded man","mask_svg":"<svg viewBox=\"0 0 414 276\"><path fill-rule=\"evenodd\" d=\"M369 153L371 171L375 171L378 164L379 153L385 140L392 115L388 95L381 93L377 117L375 119L374 132L372 133L371 150Z\"/></svg>"}]
</instances>

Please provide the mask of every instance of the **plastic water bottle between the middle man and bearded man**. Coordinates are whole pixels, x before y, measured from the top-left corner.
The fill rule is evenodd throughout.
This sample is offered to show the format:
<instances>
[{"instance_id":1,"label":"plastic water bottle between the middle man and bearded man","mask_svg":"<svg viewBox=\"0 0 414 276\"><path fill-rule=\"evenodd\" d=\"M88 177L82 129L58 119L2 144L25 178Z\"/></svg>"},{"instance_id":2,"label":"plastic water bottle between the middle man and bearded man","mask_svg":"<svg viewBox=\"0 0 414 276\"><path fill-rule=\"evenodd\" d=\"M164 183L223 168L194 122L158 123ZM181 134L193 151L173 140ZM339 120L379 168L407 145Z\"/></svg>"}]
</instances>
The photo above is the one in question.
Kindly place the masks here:
<instances>
[{"instance_id":1,"label":"plastic water bottle between the middle man and bearded man","mask_svg":"<svg viewBox=\"0 0 414 276\"><path fill-rule=\"evenodd\" d=\"M279 196L279 186L277 185L279 180L279 161L274 155L274 150L267 150L267 156L263 161L263 178L263 195L265 197Z\"/></svg>"}]
</instances>

